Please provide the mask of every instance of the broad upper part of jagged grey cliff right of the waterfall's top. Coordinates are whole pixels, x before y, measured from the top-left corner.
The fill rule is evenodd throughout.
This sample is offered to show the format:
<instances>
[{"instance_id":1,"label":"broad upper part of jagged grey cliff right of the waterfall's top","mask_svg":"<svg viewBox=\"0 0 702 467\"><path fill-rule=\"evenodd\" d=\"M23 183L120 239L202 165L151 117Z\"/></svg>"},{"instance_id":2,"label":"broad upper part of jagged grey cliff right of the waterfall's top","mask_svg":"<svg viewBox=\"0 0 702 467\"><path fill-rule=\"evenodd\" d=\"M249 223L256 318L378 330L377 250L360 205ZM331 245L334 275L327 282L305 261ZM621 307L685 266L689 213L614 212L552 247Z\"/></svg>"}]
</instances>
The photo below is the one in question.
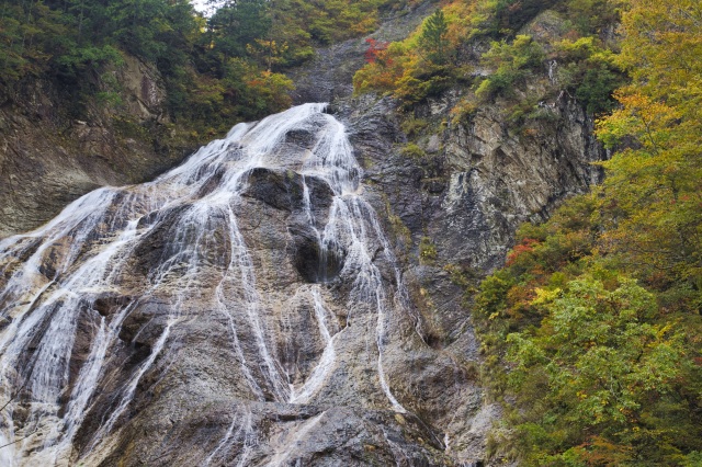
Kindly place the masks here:
<instances>
[{"instance_id":1,"label":"broad upper part of jagged grey cliff right of the waterfall's top","mask_svg":"<svg viewBox=\"0 0 702 467\"><path fill-rule=\"evenodd\" d=\"M420 158L403 155L408 136L392 100L364 96L338 109L371 186L387 196L415 243L428 237L437 263L487 272L501 265L519 224L547 219L561 201L598 183L602 171L592 163L607 155L592 118L571 99L562 96L552 119L528 135L514 134L490 107L468 124L446 125L451 101L426 105L428 124L440 123L418 141Z\"/></svg>"}]
</instances>

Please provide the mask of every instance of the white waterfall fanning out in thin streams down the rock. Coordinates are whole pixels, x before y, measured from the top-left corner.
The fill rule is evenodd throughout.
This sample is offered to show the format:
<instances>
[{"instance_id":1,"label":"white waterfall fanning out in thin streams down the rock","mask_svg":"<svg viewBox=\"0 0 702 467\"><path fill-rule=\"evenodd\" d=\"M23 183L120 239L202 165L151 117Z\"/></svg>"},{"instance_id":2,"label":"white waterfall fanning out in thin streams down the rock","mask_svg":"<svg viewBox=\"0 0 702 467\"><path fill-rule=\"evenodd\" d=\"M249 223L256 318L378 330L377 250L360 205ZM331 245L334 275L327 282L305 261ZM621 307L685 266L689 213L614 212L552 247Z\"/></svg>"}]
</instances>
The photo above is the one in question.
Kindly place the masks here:
<instances>
[{"instance_id":1,"label":"white waterfall fanning out in thin streams down the rock","mask_svg":"<svg viewBox=\"0 0 702 467\"><path fill-rule=\"evenodd\" d=\"M210 323L226 335L222 352L236 375L236 387L224 375L217 388L279 405L320 402L329 380L347 377L337 371L348 327L365 326L365 361L375 372L369 384L377 390L359 395L359 405L406 411L384 358L393 317L407 315L407 293L346 128L325 107L304 104L239 124L152 182L97 190L46 226L0 241L0 465L104 459L148 408L148 395L182 365L189 340L206 342ZM261 176L272 187L257 187ZM276 183L290 186L278 195ZM275 213L297 216L294 228L309 232L309 254L298 253L306 278L285 289L261 278L263 247L250 244L250 217L263 216L250 207L257 196L282 203ZM332 300L339 297L343 303ZM307 315L279 310L283 299ZM305 332L318 349L307 369L280 341L294 319L314 322ZM238 443L237 463L246 465L259 436L253 424L251 410L238 406L200 463L222 464ZM293 448L279 446L271 463L282 464Z\"/></svg>"}]
</instances>

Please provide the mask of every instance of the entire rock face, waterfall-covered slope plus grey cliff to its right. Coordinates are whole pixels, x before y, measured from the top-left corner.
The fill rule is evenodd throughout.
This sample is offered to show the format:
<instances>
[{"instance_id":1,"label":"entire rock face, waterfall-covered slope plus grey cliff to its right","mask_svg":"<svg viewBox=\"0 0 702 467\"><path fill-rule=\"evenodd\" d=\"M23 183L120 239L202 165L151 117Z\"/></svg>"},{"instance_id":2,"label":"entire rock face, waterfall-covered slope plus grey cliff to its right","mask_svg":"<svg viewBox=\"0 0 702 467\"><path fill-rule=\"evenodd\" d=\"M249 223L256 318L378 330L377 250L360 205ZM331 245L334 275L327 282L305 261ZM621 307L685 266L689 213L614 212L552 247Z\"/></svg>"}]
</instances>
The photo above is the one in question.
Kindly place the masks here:
<instances>
[{"instance_id":1,"label":"entire rock face, waterfall-covered slope plus grey cliff to its right","mask_svg":"<svg viewBox=\"0 0 702 467\"><path fill-rule=\"evenodd\" d=\"M499 409L451 275L597 180L591 123L564 101L563 132L523 139L484 111L411 159L392 101L322 109L0 242L1 464L485 457Z\"/></svg>"}]
</instances>

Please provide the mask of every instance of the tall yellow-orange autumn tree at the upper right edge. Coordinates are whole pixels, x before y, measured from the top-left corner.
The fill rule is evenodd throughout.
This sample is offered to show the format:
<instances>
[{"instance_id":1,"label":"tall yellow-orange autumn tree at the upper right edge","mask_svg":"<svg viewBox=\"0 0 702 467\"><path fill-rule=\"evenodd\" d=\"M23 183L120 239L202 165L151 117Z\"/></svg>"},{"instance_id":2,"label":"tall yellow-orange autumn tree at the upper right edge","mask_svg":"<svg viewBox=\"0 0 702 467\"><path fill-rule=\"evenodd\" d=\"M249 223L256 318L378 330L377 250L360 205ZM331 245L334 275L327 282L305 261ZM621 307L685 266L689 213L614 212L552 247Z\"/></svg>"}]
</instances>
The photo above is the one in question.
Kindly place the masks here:
<instances>
[{"instance_id":1,"label":"tall yellow-orange autumn tree at the upper right edge","mask_svg":"<svg viewBox=\"0 0 702 467\"><path fill-rule=\"evenodd\" d=\"M633 83L622 105L599 121L610 148L602 206L611 216L607 248L638 275L681 280L702 291L702 10L631 0L620 62Z\"/></svg>"}]
</instances>

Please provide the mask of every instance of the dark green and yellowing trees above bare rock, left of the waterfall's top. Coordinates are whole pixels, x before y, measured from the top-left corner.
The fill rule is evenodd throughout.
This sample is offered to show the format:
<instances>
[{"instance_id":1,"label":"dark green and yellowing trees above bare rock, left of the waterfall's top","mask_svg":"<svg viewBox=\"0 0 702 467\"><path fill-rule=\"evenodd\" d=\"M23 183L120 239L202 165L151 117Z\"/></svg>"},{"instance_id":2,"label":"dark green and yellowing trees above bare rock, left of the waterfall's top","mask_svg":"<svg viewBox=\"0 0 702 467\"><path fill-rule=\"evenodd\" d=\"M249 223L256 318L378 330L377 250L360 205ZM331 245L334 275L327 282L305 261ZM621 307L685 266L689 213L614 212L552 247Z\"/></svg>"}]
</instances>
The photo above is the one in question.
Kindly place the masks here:
<instances>
[{"instance_id":1,"label":"dark green and yellowing trees above bare rock, left of the waterfall's top","mask_svg":"<svg viewBox=\"0 0 702 467\"><path fill-rule=\"evenodd\" d=\"M2 0L0 95L32 78L57 82L77 116L95 99L118 107L110 72L124 54L154 64L169 114L220 132L290 105L287 67L313 46L372 31L388 0L231 0L211 18L188 0Z\"/></svg>"}]
</instances>

